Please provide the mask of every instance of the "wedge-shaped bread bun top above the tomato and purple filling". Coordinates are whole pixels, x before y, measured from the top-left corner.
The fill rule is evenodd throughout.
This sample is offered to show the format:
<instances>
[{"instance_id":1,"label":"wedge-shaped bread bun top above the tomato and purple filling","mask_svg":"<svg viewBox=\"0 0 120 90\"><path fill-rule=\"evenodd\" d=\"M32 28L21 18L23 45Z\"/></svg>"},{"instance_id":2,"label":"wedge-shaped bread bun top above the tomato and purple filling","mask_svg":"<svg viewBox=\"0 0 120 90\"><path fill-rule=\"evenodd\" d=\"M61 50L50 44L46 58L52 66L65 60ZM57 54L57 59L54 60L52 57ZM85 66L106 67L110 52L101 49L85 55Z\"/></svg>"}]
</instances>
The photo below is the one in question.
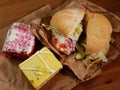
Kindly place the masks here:
<instances>
[{"instance_id":1,"label":"wedge-shaped bread bun top above the tomato and purple filling","mask_svg":"<svg viewBox=\"0 0 120 90\"><path fill-rule=\"evenodd\" d=\"M64 37L68 37L70 32L75 30L84 17L84 9L62 9L52 16L51 26L55 27Z\"/></svg>"}]
</instances>

